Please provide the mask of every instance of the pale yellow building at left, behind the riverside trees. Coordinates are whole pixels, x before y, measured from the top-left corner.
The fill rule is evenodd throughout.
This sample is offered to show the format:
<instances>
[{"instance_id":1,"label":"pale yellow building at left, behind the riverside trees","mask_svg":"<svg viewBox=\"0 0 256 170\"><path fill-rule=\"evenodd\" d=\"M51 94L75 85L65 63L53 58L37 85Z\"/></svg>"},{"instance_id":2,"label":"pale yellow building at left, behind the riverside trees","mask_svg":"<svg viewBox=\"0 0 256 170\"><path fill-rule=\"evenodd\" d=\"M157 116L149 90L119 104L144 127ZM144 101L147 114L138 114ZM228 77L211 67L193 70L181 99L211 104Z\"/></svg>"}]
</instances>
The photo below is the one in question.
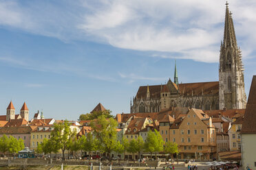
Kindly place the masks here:
<instances>
[{"instance_id":1,"label":"pale yellow building at left, behind the riverside trees","mask_svg":"<svg viewBox=\"0 0 256 170\"><path fill-rule=\"evenodd\" d=\"M32 130L30 134L30 149L36 149L40 143L43 143L44 138L49 139L52 130L54 130L54 127L51 125L39 126L35 130Z\"/></svg>"}]
</instances>

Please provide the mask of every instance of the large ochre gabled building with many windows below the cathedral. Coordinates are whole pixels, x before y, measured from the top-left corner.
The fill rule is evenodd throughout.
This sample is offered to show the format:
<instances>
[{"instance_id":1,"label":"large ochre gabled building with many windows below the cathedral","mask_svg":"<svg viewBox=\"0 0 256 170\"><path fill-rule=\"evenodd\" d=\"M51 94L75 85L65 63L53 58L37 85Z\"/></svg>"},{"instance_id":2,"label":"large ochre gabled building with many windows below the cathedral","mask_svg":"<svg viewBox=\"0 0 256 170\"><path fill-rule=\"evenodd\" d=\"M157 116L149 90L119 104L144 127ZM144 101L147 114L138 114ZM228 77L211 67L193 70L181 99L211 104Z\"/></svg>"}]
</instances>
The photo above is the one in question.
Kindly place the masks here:
<instances>
[{"instance_id":1,"label":"large ochre gabled building with many windows below the cathedral","mask_svg":"<svg viewBox=\"0 0 256 170\"><path fill-rule=\"evenodd\" d=\"M171 123L169 141L179 145L180 158L209 160L216 158L216 131L211 117L191 109Z\"/></svg>"}]
</instances>

